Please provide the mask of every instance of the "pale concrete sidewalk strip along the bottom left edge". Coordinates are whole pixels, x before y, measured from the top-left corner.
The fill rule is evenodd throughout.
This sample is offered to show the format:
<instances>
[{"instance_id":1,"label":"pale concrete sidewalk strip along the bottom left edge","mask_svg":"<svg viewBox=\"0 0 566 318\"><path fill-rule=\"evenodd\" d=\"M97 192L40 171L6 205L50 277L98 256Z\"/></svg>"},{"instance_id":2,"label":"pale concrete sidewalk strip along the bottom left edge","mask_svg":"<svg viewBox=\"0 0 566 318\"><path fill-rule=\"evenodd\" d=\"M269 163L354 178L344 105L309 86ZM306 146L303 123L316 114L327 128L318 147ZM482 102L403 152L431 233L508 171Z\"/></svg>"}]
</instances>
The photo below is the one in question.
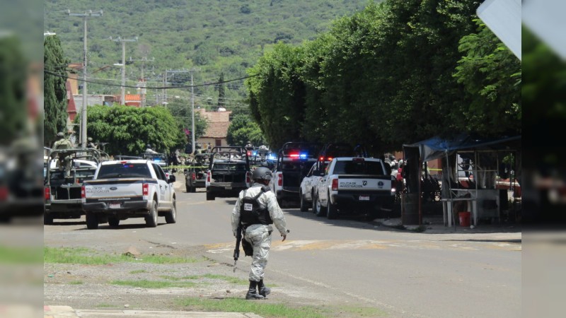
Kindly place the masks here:
<instances>
[{"instance_id":1,"label":"pale concrete sidewalk strip along the bottom left edge","mask_svg":"<svg viewBox=\"0 0 566 318\"><path fill-rule=\"evenodd\" d=\"M171 312L163 310L75 310L69 306L43 306L43 318L136 318L136 317L159 317L159 318L262 318L253 313L240 312Z\"/></svg>"}]
</instances>

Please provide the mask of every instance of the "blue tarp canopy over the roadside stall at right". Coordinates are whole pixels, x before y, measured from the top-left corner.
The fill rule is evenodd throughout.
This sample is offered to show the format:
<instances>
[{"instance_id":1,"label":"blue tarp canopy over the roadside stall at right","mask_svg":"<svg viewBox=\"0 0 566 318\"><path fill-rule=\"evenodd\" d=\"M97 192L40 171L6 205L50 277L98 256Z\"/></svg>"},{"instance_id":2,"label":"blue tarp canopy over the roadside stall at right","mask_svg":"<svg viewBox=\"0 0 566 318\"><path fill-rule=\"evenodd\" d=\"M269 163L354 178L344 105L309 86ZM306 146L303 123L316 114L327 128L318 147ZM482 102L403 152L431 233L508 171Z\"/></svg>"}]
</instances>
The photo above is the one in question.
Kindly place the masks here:
<instances>
[{"instance_id":1,"label":"blue tarp canopy over the roadside stall at right","mask_svg":"<svg viewBox=\"0 0 566 318\"><path fill-rule=\"evenodd\" d=\"M405 148L419 148L423 162L444 158L456 151L463 150L518 150L521 147L521 136L505 136L500 138L479 138L468 134L460 134L454 139L432 137L417 143L403 145Z\"/></svg>"}]
</instances>

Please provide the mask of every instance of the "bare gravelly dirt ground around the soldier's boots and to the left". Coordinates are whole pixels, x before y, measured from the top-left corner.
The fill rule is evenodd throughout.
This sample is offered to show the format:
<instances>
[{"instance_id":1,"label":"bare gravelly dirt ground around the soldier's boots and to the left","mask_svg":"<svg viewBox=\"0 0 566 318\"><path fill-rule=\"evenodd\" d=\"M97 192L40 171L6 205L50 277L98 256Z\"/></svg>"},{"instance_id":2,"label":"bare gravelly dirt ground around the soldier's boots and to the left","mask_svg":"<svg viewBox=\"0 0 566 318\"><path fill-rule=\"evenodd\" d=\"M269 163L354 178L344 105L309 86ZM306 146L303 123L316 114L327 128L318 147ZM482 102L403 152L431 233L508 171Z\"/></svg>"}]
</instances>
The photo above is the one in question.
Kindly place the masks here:
<instances>
[{"instance_id":1,"label":"bare gravelly dirt ground around the soldier's boots and to the left","mask_svg":"<svg viewBox=\"0 0 566 318\"><path fill-rule=\"evenodd\" d=\"M238 261L234 273L233 264L210 258L204 247L171 255L200 261L184 264L149 264L135 261L105 265L45 264L44 304L68 305L82 310L118 310L127 307L130 310L193 311L195 308L185 307L178 302L183 298L218 301L224 298L245 298L248 287L248 262ZM143 257L143 253L137 256L138 259ZM206 277L207 274L219 278ZM196 278L187 279L187 276ZM318 307L324 312L332 312L330 315L325 314L328 317L357 317L353 312L340 311L341 305L356 305L355 299L335 295L323 286L282 281L276 276L272 277L272 281L267 284L272 288L272 293L266 300L258 301L289 307ZM229 282L227 278L237 278L237 281ZM144 280L190 281L195 285L183 288L140 288L112 283Z\"/></svg>"}]
</instances>

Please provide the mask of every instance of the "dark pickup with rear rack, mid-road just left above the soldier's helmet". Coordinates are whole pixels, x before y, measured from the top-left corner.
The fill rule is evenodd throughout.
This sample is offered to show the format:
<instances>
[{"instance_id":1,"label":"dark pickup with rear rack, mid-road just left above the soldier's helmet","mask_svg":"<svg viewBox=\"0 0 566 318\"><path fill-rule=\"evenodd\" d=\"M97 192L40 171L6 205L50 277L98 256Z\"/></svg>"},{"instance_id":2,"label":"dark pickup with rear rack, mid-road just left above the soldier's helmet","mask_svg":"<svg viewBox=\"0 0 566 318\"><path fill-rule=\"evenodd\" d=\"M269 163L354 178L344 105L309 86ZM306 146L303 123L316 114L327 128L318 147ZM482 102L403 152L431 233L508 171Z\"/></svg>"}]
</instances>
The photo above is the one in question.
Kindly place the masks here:
<instances>
[{"instance_id":1,"label":"dark pickup with rear rack, mid-road just left above the soldier's helmet","mask_svg":"<svg viewBox=\"0 0 566 318\"><path fill-rule=\"evenodd\" d=\"M216 196L238 196L241 190L250 187L251 174L246 148L212 148L205 182L207 200L214 200Z\"/></svg>"}]
</instances>

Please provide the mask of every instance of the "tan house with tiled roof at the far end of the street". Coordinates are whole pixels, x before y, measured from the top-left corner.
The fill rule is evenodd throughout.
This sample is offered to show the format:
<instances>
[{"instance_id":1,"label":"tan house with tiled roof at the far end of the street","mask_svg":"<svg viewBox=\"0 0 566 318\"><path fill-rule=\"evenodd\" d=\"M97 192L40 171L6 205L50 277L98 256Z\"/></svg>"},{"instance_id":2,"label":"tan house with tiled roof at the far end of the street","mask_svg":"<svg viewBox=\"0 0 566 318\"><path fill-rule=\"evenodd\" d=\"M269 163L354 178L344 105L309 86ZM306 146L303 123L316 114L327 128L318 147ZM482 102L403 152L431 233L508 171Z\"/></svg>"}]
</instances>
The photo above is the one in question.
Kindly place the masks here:
<instances>
[{"instance_id":1,"label":"tan house with tiled roof at the far end of the street","mask_svg":"<svg viewBox=\"0 0 566 318\"><path fill-rule=\"evenodd\" d=\"M212 147L229 146L226 141L228 136L228 127L230 126L231 111L216 111L207 112L202 108L196 109L195 112L200 114L200 117L207 119L207 131L196 142L200 143L203 148L206 148L208 143Z\"/></svg>"}]
</instances>

